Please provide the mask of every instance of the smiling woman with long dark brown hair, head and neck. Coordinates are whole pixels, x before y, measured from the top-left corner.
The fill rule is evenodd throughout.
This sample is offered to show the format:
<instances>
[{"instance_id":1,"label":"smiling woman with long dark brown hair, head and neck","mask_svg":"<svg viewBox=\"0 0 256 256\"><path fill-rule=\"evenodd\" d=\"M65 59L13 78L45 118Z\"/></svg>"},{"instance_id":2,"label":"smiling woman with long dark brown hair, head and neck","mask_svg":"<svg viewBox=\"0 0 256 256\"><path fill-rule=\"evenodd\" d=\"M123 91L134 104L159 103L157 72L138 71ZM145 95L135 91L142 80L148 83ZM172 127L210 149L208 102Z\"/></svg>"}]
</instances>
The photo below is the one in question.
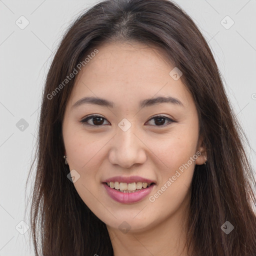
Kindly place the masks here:
<instances>
[{"instance_id":1,"label":"smiling woman with long dark brown hair, head and neck","mask_svg":"<svg viewBox=\"0 0 256 256\"><path fill-rule=\"evenodd\" d=\"M41 106L36 255L256 255L251 181L212 53L177 5L109 0L70 26Z\"/></svg>"}]
</instances>

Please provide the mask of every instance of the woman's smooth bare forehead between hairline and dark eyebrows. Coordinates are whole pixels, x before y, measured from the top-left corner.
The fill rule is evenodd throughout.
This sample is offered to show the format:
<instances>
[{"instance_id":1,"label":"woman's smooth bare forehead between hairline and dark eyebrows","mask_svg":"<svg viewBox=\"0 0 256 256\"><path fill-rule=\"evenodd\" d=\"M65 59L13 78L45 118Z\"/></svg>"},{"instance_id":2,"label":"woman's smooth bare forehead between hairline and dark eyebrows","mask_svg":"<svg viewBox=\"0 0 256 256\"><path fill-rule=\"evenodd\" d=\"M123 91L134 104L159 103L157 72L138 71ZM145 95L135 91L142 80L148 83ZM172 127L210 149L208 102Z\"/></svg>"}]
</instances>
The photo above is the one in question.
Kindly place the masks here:
<instances>
[{"instance_id":1,"label":"woman's smooth bare forehead between hairline and dark eyebrows","mask_svg":"<svg viewBox=\"0 0 256 256\"><path fill-rule=\"evenodd\" d=\"M174 66L167 61L163 49L141 43L115 42L105 43L97 50L77 74L72 101L89 95L135 102L156 94L179 97L184 104L191 100L181 79L174 80L170 76Z\"/></svg>"}]
</instances>

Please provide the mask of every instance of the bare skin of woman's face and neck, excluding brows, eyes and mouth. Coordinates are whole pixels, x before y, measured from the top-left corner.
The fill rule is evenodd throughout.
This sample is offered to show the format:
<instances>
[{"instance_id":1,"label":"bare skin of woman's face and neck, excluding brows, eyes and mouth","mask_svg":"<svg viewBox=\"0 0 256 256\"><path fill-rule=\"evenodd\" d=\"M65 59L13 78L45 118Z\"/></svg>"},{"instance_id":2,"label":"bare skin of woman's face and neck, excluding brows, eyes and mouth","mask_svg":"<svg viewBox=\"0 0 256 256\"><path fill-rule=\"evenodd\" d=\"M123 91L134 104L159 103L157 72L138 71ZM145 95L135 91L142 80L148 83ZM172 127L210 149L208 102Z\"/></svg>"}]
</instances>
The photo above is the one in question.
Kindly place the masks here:
<instances>
[{"instance_id":1,"label":"bare skin of woman's face and neck, excluding brows, eyes and mouth","mask_svg":"<svg viewBox=\"0 0 256 256\"><path fill-rule=\"evenodd\" d=\"M206 160L193 98L181 79L175 81L169 75L174 66L164 60L161 49L136 42L111 42L97 49L77 74L62 125L69 168L80 175L75 189L106 223L115 256L187 255L182 249L190 184L195 164ZM85 96L110 100L114 107L88 103L72 107ZM182 105L165 102L139 107L140 100L157 96L175 97ZM98 122L92 126L92 119L87 125L81 122L91 114L105 118L101 126L95 125ZM151 119L155 115L174 122L166 118L163 125L156 125L159 121ZM123 118L131 123L126 131L118 127ZM149 201L196 151L201 155L158 198ZM156 185L138 202L119 203L101 184L119 175L138 175L155 180ZM118 228L123 221L130 226L127 233Z\"/></svg>"}]
</instances>

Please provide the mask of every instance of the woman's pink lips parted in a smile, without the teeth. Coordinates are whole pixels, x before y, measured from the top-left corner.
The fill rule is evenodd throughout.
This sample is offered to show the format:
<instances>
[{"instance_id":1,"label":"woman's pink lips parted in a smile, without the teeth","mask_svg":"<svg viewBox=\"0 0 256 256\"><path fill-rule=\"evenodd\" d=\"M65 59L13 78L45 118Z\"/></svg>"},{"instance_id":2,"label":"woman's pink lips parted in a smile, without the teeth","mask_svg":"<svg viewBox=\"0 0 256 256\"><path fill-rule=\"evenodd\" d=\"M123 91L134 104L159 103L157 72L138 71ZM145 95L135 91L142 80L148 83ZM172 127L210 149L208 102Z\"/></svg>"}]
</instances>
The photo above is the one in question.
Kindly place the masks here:
<instances>
[{"instance_id":1,"label":"woman's pink lips parted in a smile, without the teeth","mask_svg":"<svg viewBox=\"0 0 256 256\"><path fill-rule=\"evenodd\" d=\"M150 183L154 183L154 184L150 185L149 187L142 188L141 190L136 191L136 192L124 193L124 192L120 192L119 190L116 190L114 188L110 188L106 184L107 182L111 182L111 181L112 182L118 181L118 182L125 182L125 183L141 181L141 182L146 182L148 184L150 184ZM133 203L133 202L142 200L146 195L148 195L151 192L152 188L155 185L155 181L146 179L146 178L142 178L139 176L130 176L130 177L115 176L115 177L111 177L111 178L104 180L102 183L106 189L107 194L112 199L114 199L115 201L120 202L120 203Z\"/></svg>"}]
</instances>

